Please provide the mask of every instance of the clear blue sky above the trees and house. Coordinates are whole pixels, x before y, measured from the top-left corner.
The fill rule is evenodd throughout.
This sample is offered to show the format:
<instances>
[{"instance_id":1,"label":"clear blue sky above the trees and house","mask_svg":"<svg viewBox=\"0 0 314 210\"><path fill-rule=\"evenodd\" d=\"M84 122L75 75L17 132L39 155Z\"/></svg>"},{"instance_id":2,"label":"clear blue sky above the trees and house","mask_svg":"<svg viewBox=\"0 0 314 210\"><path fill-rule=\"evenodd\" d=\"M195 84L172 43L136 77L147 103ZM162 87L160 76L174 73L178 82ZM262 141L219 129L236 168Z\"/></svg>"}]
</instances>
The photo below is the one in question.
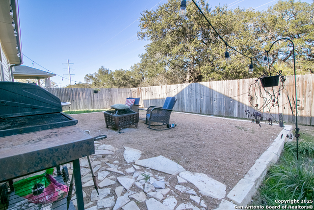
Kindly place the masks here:
<instances>
[{"instance_id":1,"label":"clear blue sky above the trees and house","mask_svg":"<svg viewBox=\"0 0 314 210\"><path fill-rule=\"evenodd\" d=\"M264 10L278 0L209 0L212 7ZM313 0L302 0L312 3ZM58 87L72 84L102 65L110 70L130 69L140 61L147 41L137 40L140 13L167 0L19 0L23 65L58 74ZM265 5L263 5L265 4ZM179 7L180 5L178 5ZM28 58L26 58L28 57ZM34 65L32 64L34 61ZM43 67L41 67L41 66ZM66 69L65 69L66 68ZM63 80L62 80L63 77Z\"/></svg>"}]
</instances>

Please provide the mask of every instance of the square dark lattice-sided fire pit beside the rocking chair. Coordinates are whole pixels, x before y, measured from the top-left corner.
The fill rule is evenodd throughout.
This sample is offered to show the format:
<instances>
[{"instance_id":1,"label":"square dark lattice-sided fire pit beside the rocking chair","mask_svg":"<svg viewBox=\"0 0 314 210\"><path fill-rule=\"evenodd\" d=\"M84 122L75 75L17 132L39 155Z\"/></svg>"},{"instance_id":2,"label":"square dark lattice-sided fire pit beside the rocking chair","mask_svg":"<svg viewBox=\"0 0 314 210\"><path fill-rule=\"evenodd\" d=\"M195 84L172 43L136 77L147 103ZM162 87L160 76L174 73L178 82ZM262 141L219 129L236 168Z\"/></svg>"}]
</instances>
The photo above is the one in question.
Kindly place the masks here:
<instances>
[{"instance_id":1,"label":"square dark lattice-sided fire pit beside the rocking chair","mask_svg":"<svg viewBox=\"0 0 314 210\"><path fill-rule=\"evenodd\" d=\"M104 112L106 128L110 125L115 129L135 125L137 127L139 114L131 109L113 109Z\"/></svg>"}]
</instances>

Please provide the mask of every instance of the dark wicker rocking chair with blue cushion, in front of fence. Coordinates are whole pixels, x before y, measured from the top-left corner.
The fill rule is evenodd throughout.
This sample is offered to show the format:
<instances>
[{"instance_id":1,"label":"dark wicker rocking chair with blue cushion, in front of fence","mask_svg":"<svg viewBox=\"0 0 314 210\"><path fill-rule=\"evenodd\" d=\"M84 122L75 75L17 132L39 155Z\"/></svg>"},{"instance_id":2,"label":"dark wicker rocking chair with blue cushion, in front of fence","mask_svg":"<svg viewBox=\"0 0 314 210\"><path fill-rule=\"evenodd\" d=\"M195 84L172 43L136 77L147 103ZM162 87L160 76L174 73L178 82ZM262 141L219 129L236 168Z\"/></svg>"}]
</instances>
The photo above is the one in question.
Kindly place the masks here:
<instances>
[{"instance_id":1,"label":"dark wicker rocking chair with blue cushion, in front of fence","mask_svg":"<svg viewBox=\"0 0 314 210\"><path fill-rule=\"evenodd\" d=\"M146 111L146 124L148 123L148 128L151 128L151 122L160 122L162 124L152 125L152 126L160 126L169 124L170 115L172 112L173 107L177 99L175 97L166 97L166 100L162 107L150 106L147 108ZM170 127L171 128L171 127ZM170 129L167 128L167 129ZM167 130L164 129L164 130ZM156 129L153 129L156 130Z\"/></svg>"}]
</instances>

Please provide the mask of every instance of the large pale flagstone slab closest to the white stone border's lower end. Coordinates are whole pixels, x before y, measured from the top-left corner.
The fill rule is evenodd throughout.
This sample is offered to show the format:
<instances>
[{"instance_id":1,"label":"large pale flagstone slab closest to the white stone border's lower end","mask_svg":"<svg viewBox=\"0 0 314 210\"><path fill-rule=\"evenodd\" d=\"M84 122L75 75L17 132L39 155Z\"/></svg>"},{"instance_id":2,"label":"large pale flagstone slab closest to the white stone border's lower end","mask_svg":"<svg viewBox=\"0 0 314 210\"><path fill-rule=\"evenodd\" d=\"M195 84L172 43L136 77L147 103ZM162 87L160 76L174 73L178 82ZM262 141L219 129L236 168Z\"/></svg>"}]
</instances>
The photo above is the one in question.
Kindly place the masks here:
<instances>
[{"instance_id":1,"label":"large pale flagstone slab closest to the white stone border's lower end","mask_svg":"<svg viewBox=\"0 0 314 210\"><path fill-rule=\"evenodd\" d=\"M186 171L181 172L179 176L184 180L194 184L199 189L199 192L203 195L219 200L226 197L226 185L209 178L206 174L191 173Z\"/></svg>"}]
</instances>

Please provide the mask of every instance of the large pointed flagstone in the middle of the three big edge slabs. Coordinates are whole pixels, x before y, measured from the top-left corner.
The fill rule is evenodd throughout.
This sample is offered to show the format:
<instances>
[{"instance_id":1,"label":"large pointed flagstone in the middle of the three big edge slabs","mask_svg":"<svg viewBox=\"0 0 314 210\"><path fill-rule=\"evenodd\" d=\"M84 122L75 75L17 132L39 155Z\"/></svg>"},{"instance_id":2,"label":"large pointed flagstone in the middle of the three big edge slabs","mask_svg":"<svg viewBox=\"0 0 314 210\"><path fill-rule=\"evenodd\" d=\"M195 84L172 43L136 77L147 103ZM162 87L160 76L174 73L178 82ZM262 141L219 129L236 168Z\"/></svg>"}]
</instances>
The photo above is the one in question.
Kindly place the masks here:
<instances>
[{"instance_id":1,"label":"large pointed flagstone in the middle of the three big edge slabs","mask_svg":"<svg viewBox=\"0 0 314 210\"><path fill-rule=\"evenodd\" d=\"M181 165L161 155L144 160L137 160L135 161L135 165L148 167L170 175L177 175L185 171Z\"/></svg>"}]
</instances>

